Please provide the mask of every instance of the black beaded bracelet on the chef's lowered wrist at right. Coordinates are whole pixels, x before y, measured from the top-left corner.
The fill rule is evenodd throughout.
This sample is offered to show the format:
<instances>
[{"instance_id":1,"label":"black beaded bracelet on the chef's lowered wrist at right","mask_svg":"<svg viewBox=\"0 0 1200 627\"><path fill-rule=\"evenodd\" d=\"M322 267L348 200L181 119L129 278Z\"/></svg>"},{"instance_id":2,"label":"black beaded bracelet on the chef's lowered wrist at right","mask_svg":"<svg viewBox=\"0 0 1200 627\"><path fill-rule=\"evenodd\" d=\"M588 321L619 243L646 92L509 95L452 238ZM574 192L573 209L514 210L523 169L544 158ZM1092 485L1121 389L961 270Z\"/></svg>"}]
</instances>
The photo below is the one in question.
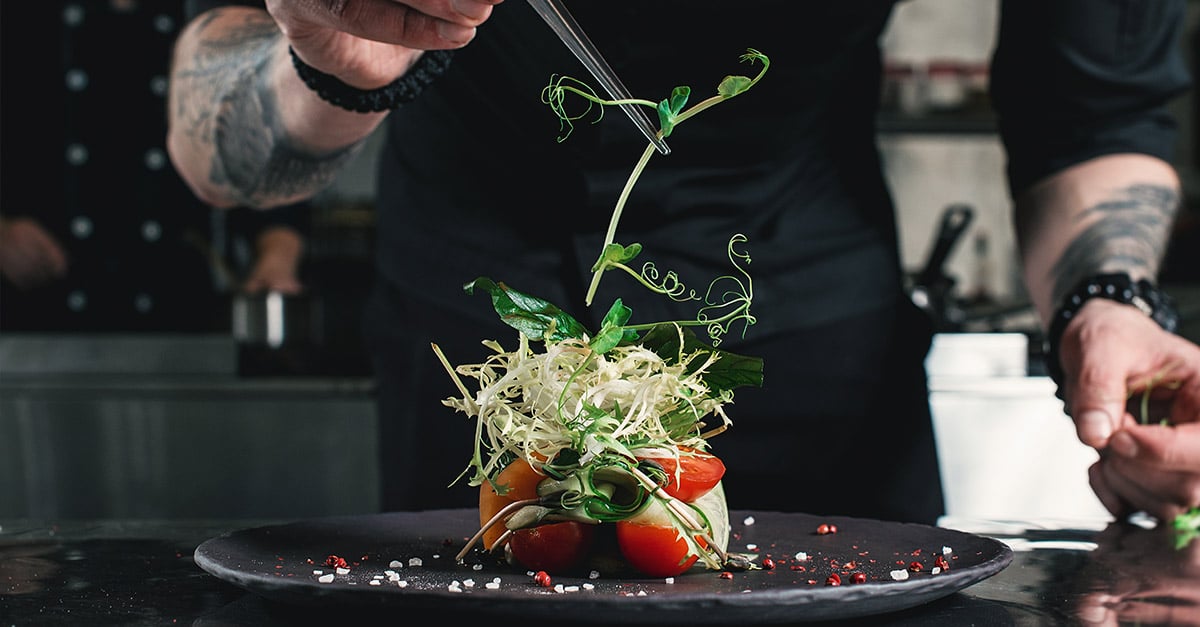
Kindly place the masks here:
<instances>
[{"instance_id":1,"label":"black beaded bracelet on the chef's lowered wrist at right","mask_svg":"<svg viewBox=\"0 0 1200 627\"><path fill-rule=\"evenodd\" d=\"M1058 362L1058 345L1062 342L1062 333L1084 304L1093 298L1104 298L1135 306L1163 329L1170 333L1178 330L1180 315L1175 310L1175 304L1154 283L1145 279L1134 282L1128 274L1123 273L1099 274L1085 279L1067 294L1062 306L1055 311L1046 333L1046 371L1050 374L1050 378L1058 384L1060 399L1063 398L1063 371L1062 364Z\"/></svg>"}]
</instances>

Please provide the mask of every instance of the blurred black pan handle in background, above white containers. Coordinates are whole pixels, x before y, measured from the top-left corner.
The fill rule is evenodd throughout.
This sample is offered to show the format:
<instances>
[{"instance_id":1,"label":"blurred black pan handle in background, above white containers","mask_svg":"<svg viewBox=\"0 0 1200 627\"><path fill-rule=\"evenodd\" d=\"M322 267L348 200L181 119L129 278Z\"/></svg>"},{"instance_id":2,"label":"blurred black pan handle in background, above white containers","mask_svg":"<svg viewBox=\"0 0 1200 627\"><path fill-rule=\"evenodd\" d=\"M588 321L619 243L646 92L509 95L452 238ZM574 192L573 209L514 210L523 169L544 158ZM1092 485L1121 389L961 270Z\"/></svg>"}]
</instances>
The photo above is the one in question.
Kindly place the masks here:
<instances>
[{"instance_id":1,"label":"blurred black pan handle in background, above white containers","mask_svg":"<svg viewBox=\"0 0 1200 627\"><path fill-rule=\"evenodd\" d=\"M929 314L934 329L938 332L958 330L962 323L964 312L954 299L954 277L946 274L946 259L949 258L955 244L974 220L974 209L966 204L952 204L942 213L937 234L930 249L924 268L910 277L908 295L912 301Z\"/></svg>"}]
</instances>

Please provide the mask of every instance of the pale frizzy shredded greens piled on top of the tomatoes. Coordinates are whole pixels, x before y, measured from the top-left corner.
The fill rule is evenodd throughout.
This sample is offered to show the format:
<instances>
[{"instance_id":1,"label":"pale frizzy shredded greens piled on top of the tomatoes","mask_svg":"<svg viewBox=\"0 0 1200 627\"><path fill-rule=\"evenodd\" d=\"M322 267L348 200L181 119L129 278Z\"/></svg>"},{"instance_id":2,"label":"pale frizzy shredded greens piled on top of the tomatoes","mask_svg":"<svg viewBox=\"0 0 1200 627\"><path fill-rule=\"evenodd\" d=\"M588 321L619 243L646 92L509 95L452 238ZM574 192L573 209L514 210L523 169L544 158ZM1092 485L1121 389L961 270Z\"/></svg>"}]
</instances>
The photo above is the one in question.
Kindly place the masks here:
<instances>
[{"instance_id":1,"label":"pale frizzy shredded greens piled on top of the tomatoes","mask_svg":"<svg viewBox=\"0 0 1200 627\"><path fill-rule=\"evenodd\" d=\"M635 344L600 354L577 338L539 342L544 350L535 351L526 335L518 338L515 351L484 342L492 356L455 368L478 382L478 392L443 401L478 419L476 447L490 459L476 467L472 485L499 472L511 455L539 468L564 449L577 453L580 465L608 453L632 459L632 449L704 450L706 418L730 424L724 405L732 394L714 393L703 381L718 359L713 352L667 360ZM706 362L694 366L695 359ZM479 453L473 464L482 461Z\"/></svg>"}]
</instances>

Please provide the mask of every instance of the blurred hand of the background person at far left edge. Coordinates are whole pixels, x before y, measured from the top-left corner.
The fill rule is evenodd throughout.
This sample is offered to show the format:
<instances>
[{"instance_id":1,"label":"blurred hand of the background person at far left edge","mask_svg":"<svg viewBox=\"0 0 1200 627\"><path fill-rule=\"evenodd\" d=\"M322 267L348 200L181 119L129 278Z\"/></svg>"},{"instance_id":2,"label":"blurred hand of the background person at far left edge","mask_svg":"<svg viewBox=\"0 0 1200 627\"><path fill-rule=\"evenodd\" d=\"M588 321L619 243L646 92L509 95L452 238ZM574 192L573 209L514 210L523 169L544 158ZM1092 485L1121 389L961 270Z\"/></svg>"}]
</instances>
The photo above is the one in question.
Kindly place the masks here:
<instances>
[{"instance_id":1,"label":"blurred hand of the background person at far left edge","mask_svg":"<svg viewBox=\"0 0 1200 627\"><path fill-rule=\"evenodd\" d=\"M0 217L0 274L29 289L62 277L67 255L54 235L30 217Z\"/></svg>"}]
</instances>

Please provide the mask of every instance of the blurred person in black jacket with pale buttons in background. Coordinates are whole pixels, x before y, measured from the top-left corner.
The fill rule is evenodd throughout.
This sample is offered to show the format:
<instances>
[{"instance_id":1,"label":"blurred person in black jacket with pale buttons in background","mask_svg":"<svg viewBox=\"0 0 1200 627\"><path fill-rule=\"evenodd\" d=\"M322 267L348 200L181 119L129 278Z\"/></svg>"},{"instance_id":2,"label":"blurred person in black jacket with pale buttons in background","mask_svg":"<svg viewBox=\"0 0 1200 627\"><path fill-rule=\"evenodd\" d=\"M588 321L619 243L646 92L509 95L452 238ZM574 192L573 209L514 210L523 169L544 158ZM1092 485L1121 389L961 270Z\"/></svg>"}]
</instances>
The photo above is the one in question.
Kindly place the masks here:
<instances>
[{"instance_id":1,"label":"blurred person in black jacket with pale buttons in background","mask_svg":"<svg viewBox=\"0 0 1200 627\"><path fill-rule=\"evenodd\" d=\"M227 227L167 161L181 1L16 2L4 17L0 330L218 333L227 292L301 289L300 209ZM53 36L30 47L31 25ZM257 240L224 285L218 243L239 228Z\"/></svg>"}]
</instances>

